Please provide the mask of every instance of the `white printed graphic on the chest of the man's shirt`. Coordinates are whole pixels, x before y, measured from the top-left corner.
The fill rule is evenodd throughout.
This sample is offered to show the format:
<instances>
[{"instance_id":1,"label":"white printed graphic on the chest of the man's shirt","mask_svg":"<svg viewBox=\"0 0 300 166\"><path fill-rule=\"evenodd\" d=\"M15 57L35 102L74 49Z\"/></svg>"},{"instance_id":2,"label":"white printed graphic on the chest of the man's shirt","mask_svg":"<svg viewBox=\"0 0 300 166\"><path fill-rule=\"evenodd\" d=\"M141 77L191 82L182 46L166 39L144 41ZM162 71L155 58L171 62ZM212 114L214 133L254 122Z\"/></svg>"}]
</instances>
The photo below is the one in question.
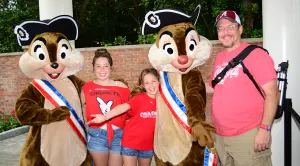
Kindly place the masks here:
<instances>
[{"instance_id":1,"label":"white printed graphic on the chest of the man's shirt","mask_svg":"<svg viewBox=\"0 0 300 166\"><path fill-rule=\"evenodd\" d=\"M216 66L216 71L214 73L214 78L221 73L221 71L228 65L227 62L222 63L222 65L217 65ZM234 67L233 69L230 69L227 71L227 73L225 74L225 76L223 77L223 79L219 82L219 84L224 84L226 79L231 79L231 78L236 78L237 76L239 76L239 71L240 68L242 68L242 65L239 64L236 67Z\"/></svg>"}]
</instances>

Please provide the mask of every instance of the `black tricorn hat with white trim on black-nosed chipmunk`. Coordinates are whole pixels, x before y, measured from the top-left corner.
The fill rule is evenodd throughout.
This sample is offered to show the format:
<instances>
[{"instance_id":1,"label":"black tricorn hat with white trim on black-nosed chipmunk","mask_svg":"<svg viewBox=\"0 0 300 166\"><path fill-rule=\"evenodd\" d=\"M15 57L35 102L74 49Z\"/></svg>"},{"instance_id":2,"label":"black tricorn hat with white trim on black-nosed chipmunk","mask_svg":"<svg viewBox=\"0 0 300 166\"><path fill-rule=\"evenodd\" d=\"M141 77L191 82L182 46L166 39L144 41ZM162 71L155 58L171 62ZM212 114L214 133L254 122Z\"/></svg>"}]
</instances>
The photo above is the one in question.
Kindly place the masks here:
<instances>
[{"instance_id":1,"label":"black tricorn hat with white trim on black-nosed chipmunk","mask_svg":"<svg viewBox=\"0 0 300 166\"><path fill-rule=\"evenodd\" d=\"M44 32L59 32L64 34L68 40L76 40L78 37L78 26L73 17L60 15L49 20L24 21L14 29L20 46L30 45L36 35Z\"/></svg>"}]
</instances>

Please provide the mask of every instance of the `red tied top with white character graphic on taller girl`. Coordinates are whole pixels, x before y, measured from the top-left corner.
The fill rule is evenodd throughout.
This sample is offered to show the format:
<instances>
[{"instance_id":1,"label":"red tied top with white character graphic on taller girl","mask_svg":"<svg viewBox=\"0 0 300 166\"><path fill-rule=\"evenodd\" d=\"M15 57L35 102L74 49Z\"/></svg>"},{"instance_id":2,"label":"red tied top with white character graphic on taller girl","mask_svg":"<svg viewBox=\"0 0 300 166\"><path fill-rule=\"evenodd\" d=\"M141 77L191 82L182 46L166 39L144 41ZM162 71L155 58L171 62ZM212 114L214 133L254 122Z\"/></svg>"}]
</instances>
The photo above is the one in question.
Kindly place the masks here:
<instances>
[{"instance_id":1,"label":"red tied top with white character graphic on taller girl","mask_svg":"<svg viewBox=\"0 0 300 166\"><path fill-rule=\"evenodd\" d=\"M115 106L128 101L130 95L129 88L118 86L102 86L93 81L87 82L83 86L86 102L87 121L92 120L91 114L105 114ZM124 128L127 115L122 114L111 119L111 124ZM105 124L91 124L90 127L101 127Z\"/></svg>"}]
</instances>

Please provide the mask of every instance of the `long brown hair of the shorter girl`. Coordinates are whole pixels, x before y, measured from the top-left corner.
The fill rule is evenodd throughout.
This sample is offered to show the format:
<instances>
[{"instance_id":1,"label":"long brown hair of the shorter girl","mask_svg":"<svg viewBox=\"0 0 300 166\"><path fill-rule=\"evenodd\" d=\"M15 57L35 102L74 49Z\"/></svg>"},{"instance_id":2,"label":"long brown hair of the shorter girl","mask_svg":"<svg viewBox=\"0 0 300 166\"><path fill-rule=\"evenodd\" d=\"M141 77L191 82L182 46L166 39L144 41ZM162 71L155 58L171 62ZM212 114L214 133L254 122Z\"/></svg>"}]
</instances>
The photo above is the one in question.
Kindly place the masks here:
<instances>
[{"instance_id":1,"label":"long brown hair of the shorter girl","mask_svg":"<svg viewBox=\"0 0 300 166\"><path fill-rule=\"evenodd\" d=\"M141 72L140 76L139 76L139 80L138 80L137 85L131 91L129 98L132 98L133 96L138 95L140 93L146 92L146 89L143 86L143 84L144 84L144 76L146 74L153 74L157 78L157 80L159 81L159 74L158 74L158 72L157 72L156 69L154 69L154 68L146 68L146 69L144 69Z\"/></svg>"}]
</instances>

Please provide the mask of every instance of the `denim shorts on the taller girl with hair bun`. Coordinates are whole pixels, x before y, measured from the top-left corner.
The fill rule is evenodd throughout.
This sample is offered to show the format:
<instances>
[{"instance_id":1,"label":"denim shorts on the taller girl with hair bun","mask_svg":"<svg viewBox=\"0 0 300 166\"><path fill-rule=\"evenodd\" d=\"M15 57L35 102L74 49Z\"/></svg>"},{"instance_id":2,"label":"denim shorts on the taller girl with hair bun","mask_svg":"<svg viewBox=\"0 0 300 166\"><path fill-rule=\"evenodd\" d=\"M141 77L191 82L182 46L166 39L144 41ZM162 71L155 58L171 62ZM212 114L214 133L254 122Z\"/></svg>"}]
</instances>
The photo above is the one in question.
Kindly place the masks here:
<instances>
[{"instance_id":1,"label":"denim shorts on the taller girl with hair bun","mask_svg":"<svg viewBox=\"0 0 300 166\"><path fill-rule=\"evenodd\" d=\"M123 129L114 130L114 138L108 147L107 131L101 128L88 128L87 149L92 152L112 152L120 154Z\"/></svg>"}]
</instances>

